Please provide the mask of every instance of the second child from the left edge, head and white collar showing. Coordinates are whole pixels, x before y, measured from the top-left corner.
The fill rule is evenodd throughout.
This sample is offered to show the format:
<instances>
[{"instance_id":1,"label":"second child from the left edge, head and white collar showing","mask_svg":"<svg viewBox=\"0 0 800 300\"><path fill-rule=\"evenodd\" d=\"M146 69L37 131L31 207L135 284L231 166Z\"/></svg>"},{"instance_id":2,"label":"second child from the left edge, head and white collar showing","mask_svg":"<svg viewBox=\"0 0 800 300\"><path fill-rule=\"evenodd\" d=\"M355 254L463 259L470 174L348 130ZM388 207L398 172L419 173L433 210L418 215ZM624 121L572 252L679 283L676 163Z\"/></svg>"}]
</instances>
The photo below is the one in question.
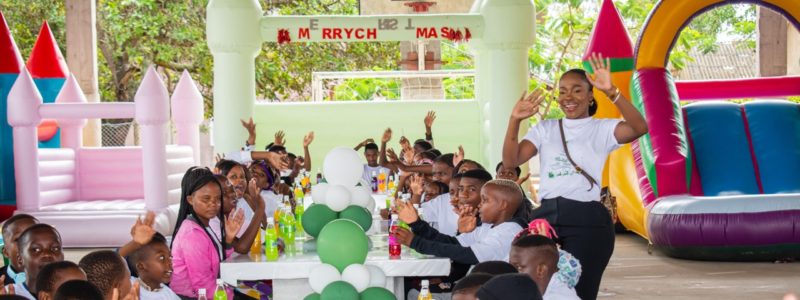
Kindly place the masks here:
<instances>
[{"instance_id":1,"label":"second child from the left edge, head and white collar showing","mask_svg":"<svg viewBox=\"0 0 800 300\"><path fill-rule=\"evenodd\" d=\"M14 284L17 295L28 299L36 299L39 291L36 286L36 277L45 265L64 260L61 249L61 235L53 226L48 224L35 224L20 234L17 239L19 255L17 260L25 271L25 281Z\"/></svg>"}]
</instances>

